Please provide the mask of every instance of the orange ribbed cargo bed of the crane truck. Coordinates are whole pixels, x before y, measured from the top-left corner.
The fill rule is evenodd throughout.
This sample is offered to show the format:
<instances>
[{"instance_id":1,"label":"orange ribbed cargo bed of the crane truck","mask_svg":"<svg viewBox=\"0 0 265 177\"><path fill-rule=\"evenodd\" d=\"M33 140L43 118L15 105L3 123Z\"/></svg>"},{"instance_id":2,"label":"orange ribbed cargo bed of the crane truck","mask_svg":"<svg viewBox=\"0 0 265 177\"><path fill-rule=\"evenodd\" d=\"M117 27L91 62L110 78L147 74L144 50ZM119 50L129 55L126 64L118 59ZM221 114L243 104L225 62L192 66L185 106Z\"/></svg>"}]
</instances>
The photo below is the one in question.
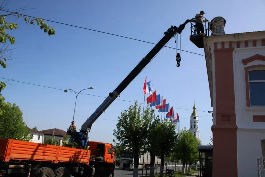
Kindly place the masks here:
<instances>
[{"instance_id":1,"label":"orange ribbed cargo bed of the crane truck","mask_svg":"<svg viewBox=\"0 0 265 177\"><path fill-rule=\"evenodd\" d=\"M14 139L0 139L0 160L34 160L57 164L72 162L89 164L90 151Z\"/></svg>"}]
</instances>

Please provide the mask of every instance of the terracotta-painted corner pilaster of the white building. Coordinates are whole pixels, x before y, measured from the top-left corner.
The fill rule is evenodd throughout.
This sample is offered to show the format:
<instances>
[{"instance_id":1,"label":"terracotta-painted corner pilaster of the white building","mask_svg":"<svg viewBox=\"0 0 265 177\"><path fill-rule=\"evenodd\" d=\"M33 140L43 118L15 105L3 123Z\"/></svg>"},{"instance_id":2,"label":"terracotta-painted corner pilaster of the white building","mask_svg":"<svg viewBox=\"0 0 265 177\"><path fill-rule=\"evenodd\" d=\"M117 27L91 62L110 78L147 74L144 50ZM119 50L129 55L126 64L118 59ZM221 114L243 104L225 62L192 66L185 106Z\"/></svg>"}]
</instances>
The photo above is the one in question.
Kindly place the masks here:
<instances>
[{"instance_id":1,"label":"terracotta-painted corner pilaster of the white building","mask_svg":"<svg viewBox=\"0 0 265 177\"><path fill-rule=\"evenodd\" d=\"M214 49L216 124L211 127L214 177L238 176L233 50Z\"/></svg>"}]
</instances>

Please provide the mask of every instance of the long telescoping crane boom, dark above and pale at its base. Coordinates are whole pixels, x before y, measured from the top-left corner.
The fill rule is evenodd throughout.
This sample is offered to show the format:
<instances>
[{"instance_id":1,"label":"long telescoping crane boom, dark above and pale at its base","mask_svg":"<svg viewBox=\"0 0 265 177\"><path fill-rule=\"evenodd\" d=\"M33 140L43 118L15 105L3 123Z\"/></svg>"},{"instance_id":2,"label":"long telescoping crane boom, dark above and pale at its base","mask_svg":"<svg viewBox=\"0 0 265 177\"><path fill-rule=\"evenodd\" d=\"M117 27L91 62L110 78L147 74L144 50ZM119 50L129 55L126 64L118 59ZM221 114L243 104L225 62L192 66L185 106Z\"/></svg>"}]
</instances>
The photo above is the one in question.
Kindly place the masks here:
<instances>
[{"instance_id":1,"label":"long telescoping crane boom, dark above and pale at its base","mask_svg":"<svg viewBox=\"0 0 265 177\"><path fill-rule=\"evenodd\" d=\"M155 55L170 41L170 39L176 34L181 33L185 28L185 25L191 20L186 20L185 23L181 24L179 27L171 26L164 33L165 36L152 48L152 50L137 64L137 66L128 74L126 78L118 85L118 87L103 101L103 103L95 110L93 114L84 122L82 125L82 132L90 132L92 124L99 118L99 116L105 112L110 104L122 93L122 91L132 82L134 78L147 66L147 64L155 57Z\"/></svg>"}]
</instances>

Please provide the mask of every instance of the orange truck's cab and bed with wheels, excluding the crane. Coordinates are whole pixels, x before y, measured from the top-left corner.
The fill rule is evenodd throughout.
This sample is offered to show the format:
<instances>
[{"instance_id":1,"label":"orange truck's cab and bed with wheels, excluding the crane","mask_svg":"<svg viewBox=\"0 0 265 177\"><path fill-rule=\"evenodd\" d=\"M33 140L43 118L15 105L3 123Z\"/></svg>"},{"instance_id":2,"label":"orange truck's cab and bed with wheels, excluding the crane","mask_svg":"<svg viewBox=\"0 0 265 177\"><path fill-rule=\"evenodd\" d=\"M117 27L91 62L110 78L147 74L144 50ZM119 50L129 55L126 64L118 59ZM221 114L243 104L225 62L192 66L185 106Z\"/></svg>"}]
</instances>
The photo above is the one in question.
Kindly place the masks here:
<instances>
[{"instance_id":1,"label":"orange truck's cab and bed with wheels, excluding the crane","mask_svg":"<svg viewBox=\"0 0 265 177\"><path fill-rule=\"evenodd\" d=\"M114 176L112 144L88 142L89 150L0 139L0 177Z\"/></svg>"}]
</instances>

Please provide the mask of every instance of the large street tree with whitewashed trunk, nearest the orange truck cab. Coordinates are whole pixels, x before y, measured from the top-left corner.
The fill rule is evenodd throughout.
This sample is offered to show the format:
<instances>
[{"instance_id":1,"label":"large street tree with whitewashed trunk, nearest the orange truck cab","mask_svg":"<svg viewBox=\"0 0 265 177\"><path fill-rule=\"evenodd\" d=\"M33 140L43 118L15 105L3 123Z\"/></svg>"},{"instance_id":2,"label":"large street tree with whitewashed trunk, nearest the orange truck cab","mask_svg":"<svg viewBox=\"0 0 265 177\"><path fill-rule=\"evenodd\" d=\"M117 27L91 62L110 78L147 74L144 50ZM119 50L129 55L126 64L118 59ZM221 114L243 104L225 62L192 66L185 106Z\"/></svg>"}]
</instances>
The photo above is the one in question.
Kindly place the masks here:
<instances>
[{"instance_id":1,"label":"large street tree with whitewashed trunk, nearest the orange truck cab","mask_svg":"<svg viewBox=\"0 0 265 177\"><path fill-rule=\"evenodd\" d=\"M153 112L154 110L151 111L150 107L147 107L141 116L141 106L138 106L135 101L135 104L129 106L128 110L121 112L121 117L118 117L118 123L113 132L118 143L114 139L113 142L118 147L126 147L128 152L132 152L134 156L133 176L138 176L140 151L147 148L147 133Z\"/></svg>"}]
</instances>

